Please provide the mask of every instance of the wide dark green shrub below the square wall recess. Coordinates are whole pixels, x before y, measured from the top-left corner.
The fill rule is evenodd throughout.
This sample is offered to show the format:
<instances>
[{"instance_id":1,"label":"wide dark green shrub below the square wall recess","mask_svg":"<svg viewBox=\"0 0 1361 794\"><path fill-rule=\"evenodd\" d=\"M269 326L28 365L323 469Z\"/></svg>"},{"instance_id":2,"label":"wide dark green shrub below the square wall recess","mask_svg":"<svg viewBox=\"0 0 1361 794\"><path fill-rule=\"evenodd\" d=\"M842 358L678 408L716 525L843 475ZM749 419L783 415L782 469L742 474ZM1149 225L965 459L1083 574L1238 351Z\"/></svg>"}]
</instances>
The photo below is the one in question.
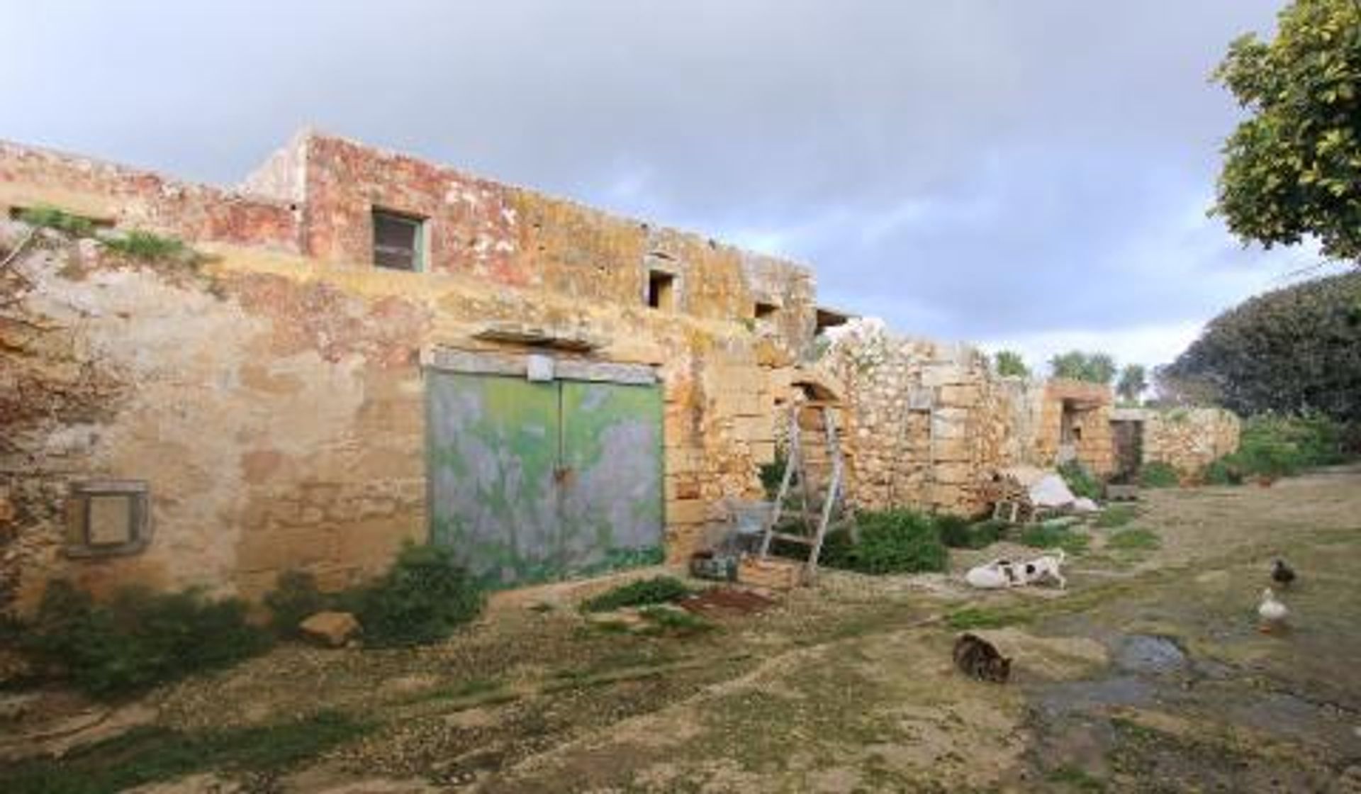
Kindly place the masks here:
<instances>
[{"instance_id":1,"label":"wide dark green shrub below the square wall recess","mask_svg":"<svg viewBox=\"0 0 1361 794\"><path fill-rule=\"evenodd\" d=\"M245 603L199 590L124 588L106 603L53 582L22 647L48 670L94 696L114 696L233 665L264 651Z\"/></svg>"}]
</instances>

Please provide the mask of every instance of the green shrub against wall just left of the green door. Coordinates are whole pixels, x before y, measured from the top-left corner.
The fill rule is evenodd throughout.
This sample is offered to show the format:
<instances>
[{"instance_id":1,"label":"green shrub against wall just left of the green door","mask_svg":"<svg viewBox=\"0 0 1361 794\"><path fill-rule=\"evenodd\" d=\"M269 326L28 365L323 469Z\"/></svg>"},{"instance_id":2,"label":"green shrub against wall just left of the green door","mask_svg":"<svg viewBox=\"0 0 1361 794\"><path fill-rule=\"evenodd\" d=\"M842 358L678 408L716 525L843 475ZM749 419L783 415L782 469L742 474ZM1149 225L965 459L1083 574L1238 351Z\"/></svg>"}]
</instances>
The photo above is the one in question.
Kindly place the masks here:
<instances>
[{"instance_id":1,"label":"green shrub against wall just left of the green door","mask_svg":"<svg viewBox=\"0 0 1361 794\"><path fill-rule=\"evenodd\" d=\"M444 546L407 543L380 579L347 599L365 644L421 646L440 641L482 613L483 592Z\"/></svg>"}]
</instances>

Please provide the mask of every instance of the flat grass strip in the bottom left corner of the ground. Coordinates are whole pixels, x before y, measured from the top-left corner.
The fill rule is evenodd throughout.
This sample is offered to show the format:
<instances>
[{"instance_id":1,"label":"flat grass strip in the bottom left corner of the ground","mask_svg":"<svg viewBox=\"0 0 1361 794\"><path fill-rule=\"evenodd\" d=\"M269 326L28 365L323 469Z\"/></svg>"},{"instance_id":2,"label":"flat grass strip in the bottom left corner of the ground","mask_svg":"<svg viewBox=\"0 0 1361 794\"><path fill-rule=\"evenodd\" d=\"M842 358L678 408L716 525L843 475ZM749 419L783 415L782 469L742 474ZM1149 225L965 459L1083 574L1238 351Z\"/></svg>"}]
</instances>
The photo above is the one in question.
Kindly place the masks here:
<instances>
[{"instance_id":1,"label":"flat grass strip in the bottom left corner of the ground","mask_svg":"<svg viewBox=\"0 0 1361 794\"><path fill-rule=\"evenodd\" d=\"M103 794L208 769L276 772L357 738L372 725L336 711L246 729L180 733L146 727L5 769L8 794Z\"/></svg>"}]
</instances>

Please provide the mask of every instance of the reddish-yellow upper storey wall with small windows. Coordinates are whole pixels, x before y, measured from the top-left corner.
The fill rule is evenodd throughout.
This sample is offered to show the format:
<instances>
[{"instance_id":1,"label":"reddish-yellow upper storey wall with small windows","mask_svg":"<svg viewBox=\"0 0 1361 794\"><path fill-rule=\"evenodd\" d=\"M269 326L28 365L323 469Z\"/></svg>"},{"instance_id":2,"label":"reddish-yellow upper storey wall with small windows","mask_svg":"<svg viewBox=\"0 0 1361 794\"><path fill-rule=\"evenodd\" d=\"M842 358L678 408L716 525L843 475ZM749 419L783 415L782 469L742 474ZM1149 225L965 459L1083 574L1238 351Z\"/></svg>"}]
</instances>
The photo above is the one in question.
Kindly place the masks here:
<instances>
[{"instance_id":1,"label":"reddish-yellow upper storey wall with small windows","mask_svg":"<svg viewBox=\"0 0 1361 794\"><path fill-rule=\"evenodd\" d=\"M301 200L304 249L324 261L370 267L372 212L427 221L427 270L497 285L641 305L649 270L676 276L676 313L766 323L787 345L807 345L815 323L807 268L715 240L618 218L346 139L302 133L246 181Z\"/></svg>"}]
</instances>

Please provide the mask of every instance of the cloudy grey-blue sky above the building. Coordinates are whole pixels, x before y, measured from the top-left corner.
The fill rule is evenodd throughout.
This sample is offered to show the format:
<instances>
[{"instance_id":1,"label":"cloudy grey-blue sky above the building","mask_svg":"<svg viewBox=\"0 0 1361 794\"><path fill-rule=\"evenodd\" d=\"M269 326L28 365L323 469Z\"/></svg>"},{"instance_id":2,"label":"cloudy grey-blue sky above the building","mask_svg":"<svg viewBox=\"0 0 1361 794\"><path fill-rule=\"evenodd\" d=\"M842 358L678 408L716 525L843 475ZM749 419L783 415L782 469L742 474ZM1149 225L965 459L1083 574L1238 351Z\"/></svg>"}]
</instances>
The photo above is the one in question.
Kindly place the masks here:
<instances>
[{"instance_id":1,"label":"cloudy grey-blue sky above the building","mask_svg":"<svg viewBox=\"0 0 1361 794\"><path fill-rule=\"evenodd\" d=\"M235 182L302 125L814 264L900 331L1168 361L1302 251L1206 217L1283 0L0 0L0 138Z\"/></svg>"}]
</instances>

